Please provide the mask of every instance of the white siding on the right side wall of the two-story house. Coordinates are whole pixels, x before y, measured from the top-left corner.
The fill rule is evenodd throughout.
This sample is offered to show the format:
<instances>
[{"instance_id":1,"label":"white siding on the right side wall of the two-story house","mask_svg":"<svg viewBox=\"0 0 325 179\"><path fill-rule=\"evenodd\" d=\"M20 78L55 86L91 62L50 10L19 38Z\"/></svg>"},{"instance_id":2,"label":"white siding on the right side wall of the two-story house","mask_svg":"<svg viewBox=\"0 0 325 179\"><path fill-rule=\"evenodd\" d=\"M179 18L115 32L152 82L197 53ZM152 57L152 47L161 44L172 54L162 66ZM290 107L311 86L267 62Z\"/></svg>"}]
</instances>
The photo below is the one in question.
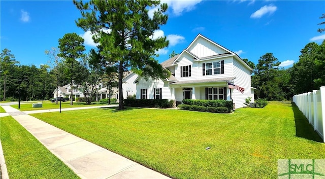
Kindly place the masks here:
<instances>
[{"instance_id":1,"label":"white siding on the right side wall of the two-story house","mask_svg":"<svg viewBox=\"0 0 325 179\"><path fill-rule=\"evenodd\" d=\"M251 80L250 70L234 58L234 84L245 88L244 94L236 89L232 89L232 98L234 99L235 108L242 108L247 97L251 97Z\"/></svg>"}]
</instances>

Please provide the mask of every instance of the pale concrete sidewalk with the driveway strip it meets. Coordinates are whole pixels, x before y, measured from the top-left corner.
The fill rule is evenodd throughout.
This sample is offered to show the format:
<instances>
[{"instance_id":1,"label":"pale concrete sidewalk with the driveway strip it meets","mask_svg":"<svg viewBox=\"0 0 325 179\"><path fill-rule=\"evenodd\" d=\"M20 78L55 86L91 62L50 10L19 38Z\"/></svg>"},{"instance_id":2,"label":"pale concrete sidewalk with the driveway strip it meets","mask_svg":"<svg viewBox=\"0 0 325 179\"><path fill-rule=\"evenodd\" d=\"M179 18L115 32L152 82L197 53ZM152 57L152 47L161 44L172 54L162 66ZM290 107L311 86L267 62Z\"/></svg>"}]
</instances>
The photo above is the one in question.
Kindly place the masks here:
<instances>
[{"instance_id":1,"label":"pale concrete sidewalk with the driveway strip it meets","mask_svg":"<svg viewBox=\"0 0 325 179\"><path fill-rule=\"evenodd\" d=\"M27 115L35 113L36 111L31 113L20 112L11 106L2 107L81 178L169 178L35 117ZM99 107L103 108L104 106ZM86 108L87 107L81 109ZM77 110L76 108L71 109ZM65 109L65 111L66 110L67 109ZM48 110L39 110L41 113L45 113L45 111L49 112Z\"/></svg>"}]
</instances>

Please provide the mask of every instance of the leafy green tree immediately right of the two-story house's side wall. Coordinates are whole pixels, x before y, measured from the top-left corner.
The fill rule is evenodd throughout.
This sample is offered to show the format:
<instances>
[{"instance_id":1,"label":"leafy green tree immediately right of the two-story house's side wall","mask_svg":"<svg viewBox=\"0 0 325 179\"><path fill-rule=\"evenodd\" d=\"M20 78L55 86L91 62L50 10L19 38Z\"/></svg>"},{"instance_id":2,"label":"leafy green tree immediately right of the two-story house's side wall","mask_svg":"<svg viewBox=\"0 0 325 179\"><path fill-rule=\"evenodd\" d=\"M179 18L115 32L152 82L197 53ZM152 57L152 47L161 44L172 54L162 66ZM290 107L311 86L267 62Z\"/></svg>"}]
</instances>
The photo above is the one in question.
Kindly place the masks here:
<instances>
[{"instance_id":1,"label":"leafy green tree immediately right of the two-story house's side wall","mask_svg":"<svg viewBox=\"0 0 325 179\"><path fill-rule=\"evenodd\" d=\"M276 83L276 76L279 64L280 62L273 56L273 53L266 53L259 58L252 78L259 98L278 99L280 88Z\"/></svg>"}]
</instances>

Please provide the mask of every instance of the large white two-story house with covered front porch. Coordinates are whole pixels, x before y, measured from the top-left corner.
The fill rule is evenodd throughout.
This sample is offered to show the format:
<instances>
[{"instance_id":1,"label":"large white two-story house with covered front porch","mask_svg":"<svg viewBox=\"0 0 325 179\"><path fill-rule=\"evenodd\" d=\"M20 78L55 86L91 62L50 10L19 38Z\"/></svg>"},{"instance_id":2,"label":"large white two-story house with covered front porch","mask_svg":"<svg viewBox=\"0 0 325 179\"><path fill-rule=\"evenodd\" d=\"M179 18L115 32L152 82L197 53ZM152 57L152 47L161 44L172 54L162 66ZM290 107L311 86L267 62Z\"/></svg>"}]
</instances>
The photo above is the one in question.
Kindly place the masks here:
<instances>
[{"instance_id":1,"label":"large white two-story house with covered front porch","mask_svg":"<svg viewBox=\"0 0 325 179\"><path fill-rule=\"evenodd\" d=\"M161 65L171 71L169 78L124 78L126 83L136 84L137 99L174 99L178 103L183 99L224 99L233 100L234 109L243 107L247 97L254 101L252 69L236 53L201 34ZM228 82L239 90L229 88L234 86Z\"/></svg>"}]
</instances>

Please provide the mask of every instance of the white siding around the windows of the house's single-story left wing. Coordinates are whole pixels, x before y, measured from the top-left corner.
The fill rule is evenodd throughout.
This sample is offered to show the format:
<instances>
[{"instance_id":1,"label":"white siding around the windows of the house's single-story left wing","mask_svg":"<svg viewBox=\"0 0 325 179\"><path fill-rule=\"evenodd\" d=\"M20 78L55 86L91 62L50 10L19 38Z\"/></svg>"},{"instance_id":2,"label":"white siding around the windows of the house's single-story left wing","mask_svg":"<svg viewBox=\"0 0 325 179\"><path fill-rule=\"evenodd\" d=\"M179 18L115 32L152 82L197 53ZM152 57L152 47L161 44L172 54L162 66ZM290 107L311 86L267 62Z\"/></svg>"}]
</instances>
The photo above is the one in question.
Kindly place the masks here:
<instances>
[{"instance_id":1,"label":"white siding around the windows of the house's single-story left wing","mask_svg":"<svg viewBox=\"0 0 325 179\"><path fill-rule=\"evenodd\" d=\"M164 82L163 80L157 79L152 80L149 78L148 80L145 80L142 77L139 77L138 83L137 83L137 94L136 98L141 99L141 89L148 89L147 97L148 99L153 99L153 89L154 88L161 88L161 97L163 99L171 99L172 98L172 91L171 88L168 85L168 82Z\"/></svg>"}]
</instances>

